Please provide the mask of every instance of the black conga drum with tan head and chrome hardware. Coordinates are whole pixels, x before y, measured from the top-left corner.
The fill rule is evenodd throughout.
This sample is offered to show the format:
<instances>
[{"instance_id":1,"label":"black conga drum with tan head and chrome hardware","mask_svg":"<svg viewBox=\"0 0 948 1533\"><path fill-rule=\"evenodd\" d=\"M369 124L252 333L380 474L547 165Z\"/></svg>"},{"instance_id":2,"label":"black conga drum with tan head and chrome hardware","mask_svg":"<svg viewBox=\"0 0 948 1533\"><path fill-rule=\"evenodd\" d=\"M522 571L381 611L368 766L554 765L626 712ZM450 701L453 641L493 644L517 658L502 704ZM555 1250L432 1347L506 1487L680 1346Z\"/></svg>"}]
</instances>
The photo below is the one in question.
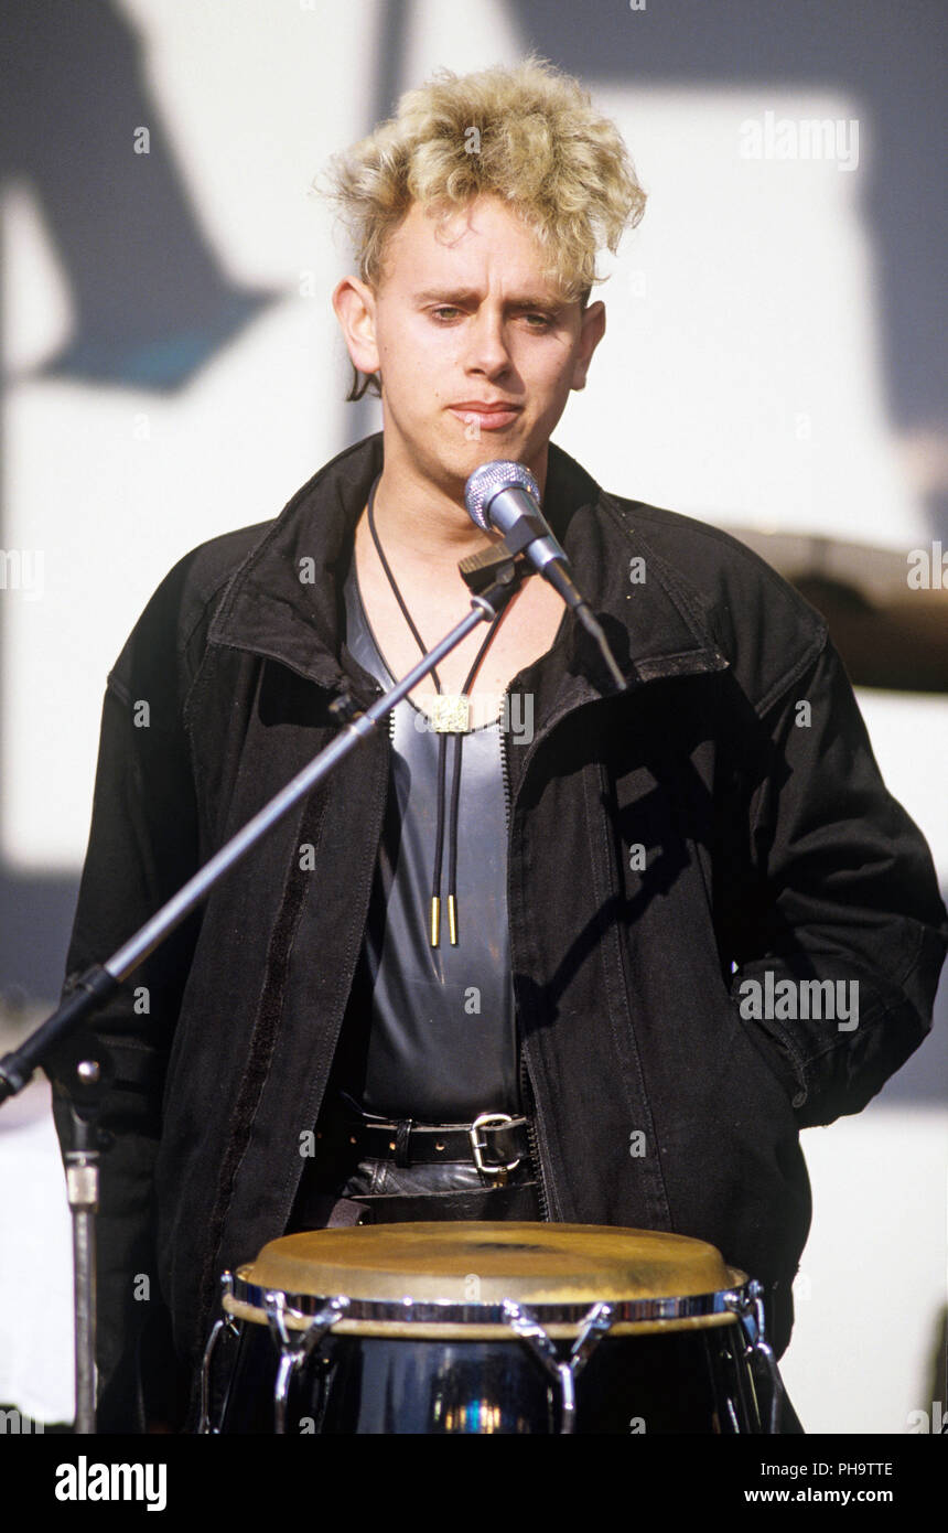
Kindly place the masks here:
<instances>
[{"instance_id":1,"label":"black conga drum with tan head and chrome hardware","mask_svg":"<svg viewBox=\"0 0 948 1533\"><path fill-rule=\"evenodd\" d=\"M515 1222L314 1229L273 1240L222 1288L204 1432L772 1429L750 1367L769 1354L760 1285L685 1236Z\"/></svg>"}]
</instances>

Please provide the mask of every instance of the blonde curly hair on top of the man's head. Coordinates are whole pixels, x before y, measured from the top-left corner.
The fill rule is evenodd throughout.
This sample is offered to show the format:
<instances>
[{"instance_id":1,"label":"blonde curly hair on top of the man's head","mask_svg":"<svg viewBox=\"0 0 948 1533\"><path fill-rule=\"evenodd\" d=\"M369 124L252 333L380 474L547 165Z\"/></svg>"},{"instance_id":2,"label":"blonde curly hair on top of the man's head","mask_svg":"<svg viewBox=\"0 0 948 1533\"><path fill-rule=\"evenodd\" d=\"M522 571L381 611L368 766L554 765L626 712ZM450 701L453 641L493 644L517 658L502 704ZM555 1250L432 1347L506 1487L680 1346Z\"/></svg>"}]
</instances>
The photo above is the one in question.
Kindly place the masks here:
<instances>
[{"instance_id":1,"label":"blonde curly hair on top of the man's head","mask_svg":"<svg viewBox=\"0 0 948 1533\"><path fill-rule=\"evenodd\" d=\"M470 75L438 71L395 117L329 161L326 184L358 274L381 282L384 253L414 202L443 218L492 193L510 202L548 254L544 276L565 302L588 300L596 253L613 253L645 212L645 192L614 123L571 75L530 55ZM349 399L366 388L358 373Z\"/></svg>"}]
</instances>

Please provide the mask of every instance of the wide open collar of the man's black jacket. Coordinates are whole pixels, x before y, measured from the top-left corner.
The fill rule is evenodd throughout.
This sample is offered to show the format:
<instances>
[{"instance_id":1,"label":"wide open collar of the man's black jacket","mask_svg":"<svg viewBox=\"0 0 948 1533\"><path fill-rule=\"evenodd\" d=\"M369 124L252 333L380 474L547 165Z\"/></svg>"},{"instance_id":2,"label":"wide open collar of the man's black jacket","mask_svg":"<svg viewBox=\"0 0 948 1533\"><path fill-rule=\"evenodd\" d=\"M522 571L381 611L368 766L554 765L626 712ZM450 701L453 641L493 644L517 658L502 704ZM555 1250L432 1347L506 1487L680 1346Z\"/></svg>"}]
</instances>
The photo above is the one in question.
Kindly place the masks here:
<instances>
[{"instance_id":1,"label":"wide open collar of the man's black jacket","mask_svg":"<svg viewBox=\"0 0 948 1533\"><path fill-rule=\"evenodd\" d=\"M346 673L358 679L340 645L338 570L381 463L383 437L377 432L303 484L234 572L208 642L280 661L328 688L338 688ZM634 509L634 503L606 495L550 443L544 515L626 681L723 670L727 661L708 627L700 593L639 537ZM645 564L633 566L634 558ZM633 583L633 569L645 572L643 583ZM599 696L600 685L590 687L596 661L590 668L585 636L574 624L564 658L579 682L576 696Z\"/></svg>"}]
</instances>

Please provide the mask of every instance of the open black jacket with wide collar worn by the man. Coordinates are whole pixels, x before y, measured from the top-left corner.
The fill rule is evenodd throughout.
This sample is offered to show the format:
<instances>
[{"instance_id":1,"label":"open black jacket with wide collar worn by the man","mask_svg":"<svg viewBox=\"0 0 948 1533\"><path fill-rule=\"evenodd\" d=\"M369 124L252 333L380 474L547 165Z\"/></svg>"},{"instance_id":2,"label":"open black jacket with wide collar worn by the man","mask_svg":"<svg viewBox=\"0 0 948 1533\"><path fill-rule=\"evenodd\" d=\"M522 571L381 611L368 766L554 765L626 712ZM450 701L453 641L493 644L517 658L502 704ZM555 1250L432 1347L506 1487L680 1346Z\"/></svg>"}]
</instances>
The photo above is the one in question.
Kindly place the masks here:
<instances>
[{"instance_id":1,"label":"open black jacket with wide collar worn by the man","mask_svg":"<svg viewBox=\"0 0 948 1533\"><path fill-rule=\"evenodd\" d=\"M106 690L70 972L332 739L340 688L377 694L338 633L343 555L380 466L380 435L340 454L276 521L188 553L149 602ZM783 1351L810 1223L798 1130L859 1111L931 1026L948 932L931 857L879 777L822 619L769 566L606 495L554 446L544 509L629 681L611 694L564 618L512 684L534 707L531 742L505 751L508 911L550 1217L711 1240L783 1295ZM129 1378L156 1302L190 1367L219 1274L285 1229L387 777L381 730L100 1016L118 1070L106 1383ZM858 981L858 1026L741 1015L738 987L767 970Z\"/></svg>"}]
</instances>

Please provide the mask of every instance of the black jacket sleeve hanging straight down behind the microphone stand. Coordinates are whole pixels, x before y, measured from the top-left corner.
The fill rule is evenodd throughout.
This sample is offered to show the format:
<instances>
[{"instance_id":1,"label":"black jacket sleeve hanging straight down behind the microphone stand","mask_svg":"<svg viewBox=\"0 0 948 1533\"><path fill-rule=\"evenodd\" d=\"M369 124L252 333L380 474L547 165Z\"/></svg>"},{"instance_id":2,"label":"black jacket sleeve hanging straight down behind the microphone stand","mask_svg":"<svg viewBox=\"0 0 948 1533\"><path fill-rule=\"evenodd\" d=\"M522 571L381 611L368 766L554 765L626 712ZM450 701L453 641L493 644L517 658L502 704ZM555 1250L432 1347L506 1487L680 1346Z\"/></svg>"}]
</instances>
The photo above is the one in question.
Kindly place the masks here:
<instances>
[{"instance_id":1,"label":"black jacket sleeve hanging straight down behind the microphone stand","mask_svg":"<svg viewBox=\"0 0 948 1533\"><path fill-rule=\"evenodd\" d=\"M198 866L195 789L181 725L181 664L168 598L159 587L110 673L103 704L89 848L66 967L109 958ZM87 1023L112 1055L115 1078L100 1125L98 1265L100 1430L144 1426L138 1354L161 1355L145 1337L167 1334L158 1291L152 1176L161 1134L168 1049L190 967L199 914L152 954ZM69 1145L69 1110L54 1076L54 1118ZM167 1354L167 1348L164 1352ZM170 1360L168 1360L170 1361ZM172 1369L153 1381L161 1415ZM149 1401L145 1401L145 1406Z\"/></svg>"}]
</instances>

